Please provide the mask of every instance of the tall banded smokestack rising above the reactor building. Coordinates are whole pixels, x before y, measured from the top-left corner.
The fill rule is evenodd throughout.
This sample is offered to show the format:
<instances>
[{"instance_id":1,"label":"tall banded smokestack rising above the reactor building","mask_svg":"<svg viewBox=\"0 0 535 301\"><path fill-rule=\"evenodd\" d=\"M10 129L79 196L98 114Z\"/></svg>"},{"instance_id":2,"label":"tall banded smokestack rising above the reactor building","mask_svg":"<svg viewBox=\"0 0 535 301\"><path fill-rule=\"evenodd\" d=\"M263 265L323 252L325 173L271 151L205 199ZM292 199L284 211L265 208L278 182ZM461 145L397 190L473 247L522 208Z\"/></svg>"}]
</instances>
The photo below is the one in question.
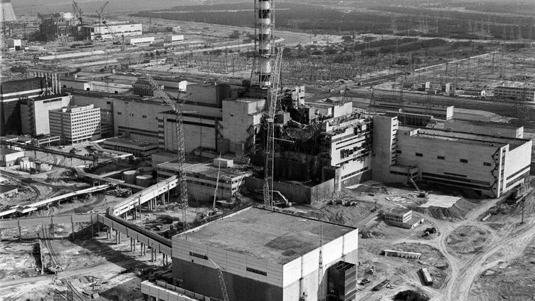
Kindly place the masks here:
<instances>
[{"instance_id":1,"label":"tall banded smokestack rising above the reactor building","mask_svg":"<svg viewBox=\"0 0 535 301\"><path fill-rule=\"evenodd\" d=\"M271 86L271 42L275 25L275 6L273 0L255 0L255 65L253 70L258 77L260 88Z\"/></svg>"}]
</instances>

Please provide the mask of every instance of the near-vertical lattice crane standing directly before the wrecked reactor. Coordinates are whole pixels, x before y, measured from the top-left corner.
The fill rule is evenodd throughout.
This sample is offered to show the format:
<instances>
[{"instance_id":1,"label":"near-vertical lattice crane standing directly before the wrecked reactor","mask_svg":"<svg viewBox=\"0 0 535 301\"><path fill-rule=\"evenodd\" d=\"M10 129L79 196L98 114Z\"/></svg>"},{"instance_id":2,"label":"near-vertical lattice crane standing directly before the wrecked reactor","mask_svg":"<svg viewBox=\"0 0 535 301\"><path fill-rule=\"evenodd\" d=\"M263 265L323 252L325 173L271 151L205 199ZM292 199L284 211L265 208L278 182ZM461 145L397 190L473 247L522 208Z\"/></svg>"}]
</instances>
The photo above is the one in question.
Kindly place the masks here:
<instances>
[{"instance_id":1,"label":"near-vertical lattice crane standing directly before the wrecked reactor","mask_svg":"<svg viewBox=\"0 0 535 301\"><path fill-rule=\"evenodd\" d=\"M280 84L280 66L282 65L282 48L277 51L273 64L272 83L270 95L266 102L265 120L268 122L268 139L265 148L265 178L264 178L264 207L271 209L273 206L273 155L275 154L275 109L277 107L277 95Z\"/></svg>"}]
</instances>

